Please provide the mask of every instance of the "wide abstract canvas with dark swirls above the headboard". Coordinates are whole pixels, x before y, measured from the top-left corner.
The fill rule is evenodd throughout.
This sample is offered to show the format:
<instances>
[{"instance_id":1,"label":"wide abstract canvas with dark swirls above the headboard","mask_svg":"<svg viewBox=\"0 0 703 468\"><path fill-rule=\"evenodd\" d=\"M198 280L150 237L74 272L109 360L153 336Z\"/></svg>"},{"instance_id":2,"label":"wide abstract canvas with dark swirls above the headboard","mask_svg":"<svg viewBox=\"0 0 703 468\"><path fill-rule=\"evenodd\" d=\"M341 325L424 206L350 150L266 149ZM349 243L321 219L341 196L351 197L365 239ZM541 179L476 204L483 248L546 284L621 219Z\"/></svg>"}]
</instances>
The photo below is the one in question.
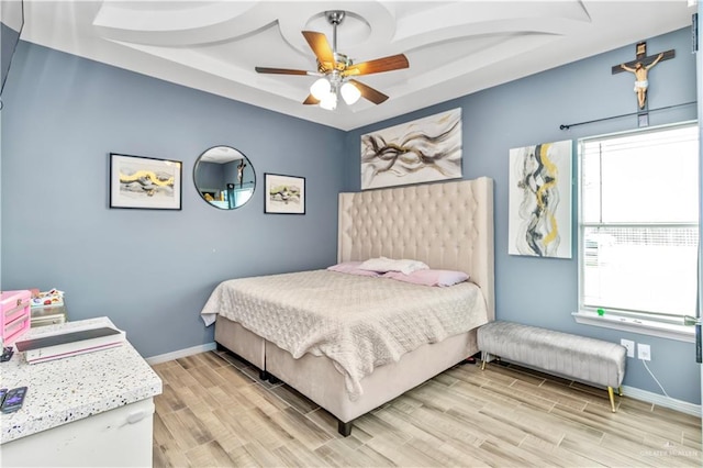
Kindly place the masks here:
<instances>
[{"instance_id":1,"label":"wide abstract canvas with dark swirls above the headboard","mask_svg":"<svg viewBox=\"0 0 703 468\"><path fill-rule=\"evenodd\" d=\"M361 190L461 178L461 109L361 135Z\"/></svg>"}]
</instances>

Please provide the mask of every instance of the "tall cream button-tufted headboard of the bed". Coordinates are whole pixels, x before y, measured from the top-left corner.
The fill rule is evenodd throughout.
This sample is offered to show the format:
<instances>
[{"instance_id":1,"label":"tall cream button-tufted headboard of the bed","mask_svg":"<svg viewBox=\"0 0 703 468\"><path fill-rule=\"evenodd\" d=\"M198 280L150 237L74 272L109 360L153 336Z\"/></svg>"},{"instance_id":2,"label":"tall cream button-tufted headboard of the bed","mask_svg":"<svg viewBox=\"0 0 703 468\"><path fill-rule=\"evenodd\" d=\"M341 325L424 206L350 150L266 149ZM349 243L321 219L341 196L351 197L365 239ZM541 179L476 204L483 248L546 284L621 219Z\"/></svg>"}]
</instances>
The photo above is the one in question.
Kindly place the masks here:
<instances>
[{"instance_id":1,"label":"tall cream button-tufted headboard of the bed","mask_svg":"<svg viewBox=\"0 0 703 468\"><path fill-rule=\"evenodd\" d=\"M337 260L412 258L466 271L495 316L493 180L339 193Z\"/></svg>"}]
</instances>

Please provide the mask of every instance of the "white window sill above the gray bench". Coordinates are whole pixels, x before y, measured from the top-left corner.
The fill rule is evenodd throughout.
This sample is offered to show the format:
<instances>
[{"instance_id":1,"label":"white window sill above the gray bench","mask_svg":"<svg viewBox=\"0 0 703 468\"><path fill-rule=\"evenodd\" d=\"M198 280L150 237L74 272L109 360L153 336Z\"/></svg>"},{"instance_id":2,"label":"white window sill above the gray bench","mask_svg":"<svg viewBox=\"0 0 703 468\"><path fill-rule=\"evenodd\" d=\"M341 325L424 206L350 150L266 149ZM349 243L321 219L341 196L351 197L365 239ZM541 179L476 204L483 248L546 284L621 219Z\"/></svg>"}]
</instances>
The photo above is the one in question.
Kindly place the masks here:
<instances>
[{"instance_id":1,"label":"white window sill above the gray bench","mask_svg":"<svg viewBox=\"0 0 703 468\"><path fill-rule=\"evenodd\" d=\"M573 315L577 323L583 325L601 326L604 328L621 330L623 332L639 333L640 335L695 343L695 330L693 326L674 325L620 315L599 315L595 312L573 312L571 315Z\"/></svg>"}]
</instances>

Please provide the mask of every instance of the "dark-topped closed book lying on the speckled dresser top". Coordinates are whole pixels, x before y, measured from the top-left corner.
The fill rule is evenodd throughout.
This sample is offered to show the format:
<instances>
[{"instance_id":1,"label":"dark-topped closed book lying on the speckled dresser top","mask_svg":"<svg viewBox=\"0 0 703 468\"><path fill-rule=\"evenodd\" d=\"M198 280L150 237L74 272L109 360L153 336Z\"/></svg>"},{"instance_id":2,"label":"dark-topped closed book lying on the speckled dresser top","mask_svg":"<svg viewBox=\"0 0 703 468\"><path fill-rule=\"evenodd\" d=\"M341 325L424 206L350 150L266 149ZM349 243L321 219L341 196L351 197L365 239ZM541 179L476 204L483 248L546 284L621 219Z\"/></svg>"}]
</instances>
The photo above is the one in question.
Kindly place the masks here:
<instances>
[{"instance_id":1,"label":"dark-topped closed book lying on the speckled dresser top","mask_svg":"<svg viewBox=\"0 0 703 468\"><path fill-rule=\"evenodd\" d=\"M110 326L63 331L16 342L14 346L29 364L93 353L120 346L125 333Z\"/></svg>"}]
</instances>

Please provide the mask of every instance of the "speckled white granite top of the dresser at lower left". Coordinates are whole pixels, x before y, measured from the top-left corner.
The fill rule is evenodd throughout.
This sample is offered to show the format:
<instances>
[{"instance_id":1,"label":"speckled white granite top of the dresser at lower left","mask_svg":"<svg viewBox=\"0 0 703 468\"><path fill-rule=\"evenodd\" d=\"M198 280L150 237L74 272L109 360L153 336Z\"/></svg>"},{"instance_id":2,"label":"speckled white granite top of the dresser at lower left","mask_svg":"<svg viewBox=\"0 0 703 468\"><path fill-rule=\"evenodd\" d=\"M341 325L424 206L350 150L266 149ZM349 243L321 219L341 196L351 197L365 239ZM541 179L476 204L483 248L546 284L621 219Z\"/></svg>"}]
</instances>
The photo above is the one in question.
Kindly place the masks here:
<instances>
[{"instance_id":1,"label":"speckled white granite top of the dresser at lower left","mask_svg":"<svg viewBox=\"0 0 703 468\"><path fill-rule=\"evenodd\" d=\"M114 326L103 316L32 328L20 339L86 325ZM160 394L161 380L129 338L114 348L40 364L27 364L15 349L0 363L0 387L29 389L19 411L0 414L0 444Z\"/></svg>"}]
</instances>

